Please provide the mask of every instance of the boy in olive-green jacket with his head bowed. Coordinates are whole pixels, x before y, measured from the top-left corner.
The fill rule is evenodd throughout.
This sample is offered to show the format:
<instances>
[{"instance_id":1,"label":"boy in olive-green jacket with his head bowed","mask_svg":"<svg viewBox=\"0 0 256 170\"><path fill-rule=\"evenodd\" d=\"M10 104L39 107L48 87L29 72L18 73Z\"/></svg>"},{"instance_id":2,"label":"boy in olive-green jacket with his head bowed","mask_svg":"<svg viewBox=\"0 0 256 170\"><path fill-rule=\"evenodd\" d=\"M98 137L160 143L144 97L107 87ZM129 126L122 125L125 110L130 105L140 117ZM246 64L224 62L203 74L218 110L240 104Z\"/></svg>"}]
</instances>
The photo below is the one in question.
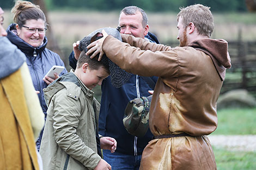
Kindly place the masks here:
<instances>
[{"instance_id":1,"label":"boy in olive-green jacket with his head bowed","mask_svg":"<svg viewBox=\"0 0 256 170\"><path fill-rule=\"evenodd\" d=\"M111 169L100 149L114 152L112 137L99 137L100 104L92 89L108 77L109 67L83 51L75 71L44 89L48 106L40 147L44 169Z\"/></svg>"}]
</instances>

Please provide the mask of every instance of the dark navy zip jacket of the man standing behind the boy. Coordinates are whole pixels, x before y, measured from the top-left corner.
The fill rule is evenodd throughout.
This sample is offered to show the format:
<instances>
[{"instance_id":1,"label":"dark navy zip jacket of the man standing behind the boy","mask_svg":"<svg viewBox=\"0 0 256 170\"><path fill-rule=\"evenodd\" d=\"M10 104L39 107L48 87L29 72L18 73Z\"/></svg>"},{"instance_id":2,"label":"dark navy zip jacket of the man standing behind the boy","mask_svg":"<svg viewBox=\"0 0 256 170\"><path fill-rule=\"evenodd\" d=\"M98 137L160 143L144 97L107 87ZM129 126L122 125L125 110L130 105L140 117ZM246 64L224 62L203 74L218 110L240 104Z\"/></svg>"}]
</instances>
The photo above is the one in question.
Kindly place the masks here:
<instances>
[{"instance_id":1,"label":"dark navy zip jacket of the man standing behind the boy","mask_svg":"<svg viewBox=\"0 0 256 170\"><path fill-rule=\"evenodd\" d=\"M145 39L148 39L150 42L159 43L156 36L152 33L148 33ZM69 64L72 68L76 68L76 62L74 52L72 52L69 56ZM151 77L151 79L156 83L157 77ZM135 74L131 74L129 81L120 88L115 88L111 84L110 77L102 81L99 134L110 136L117 140L118 147L115 152L141 155L145 146L153 138L150 130L143 137L133 136L126 131L123 124L127 103L134 98L149 96L148 90L152 89L147 82L141 76Z\"/></svg>"}]
</instances>

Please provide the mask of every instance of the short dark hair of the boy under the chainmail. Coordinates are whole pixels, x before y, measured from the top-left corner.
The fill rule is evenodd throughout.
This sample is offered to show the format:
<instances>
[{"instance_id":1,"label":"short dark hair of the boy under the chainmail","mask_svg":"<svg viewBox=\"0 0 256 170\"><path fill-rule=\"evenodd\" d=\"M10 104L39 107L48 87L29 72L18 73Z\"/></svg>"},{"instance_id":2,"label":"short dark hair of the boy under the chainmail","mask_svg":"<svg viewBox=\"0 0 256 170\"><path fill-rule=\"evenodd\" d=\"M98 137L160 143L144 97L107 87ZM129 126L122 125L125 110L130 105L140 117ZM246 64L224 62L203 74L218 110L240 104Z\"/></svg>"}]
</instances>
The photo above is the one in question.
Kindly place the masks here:
<instances>
[{"instance_id":1,"label":"short dark hair of the boy under the chainmail","mask_svg":"<svg viewBox=\"0 0 256 170\"><path fill-rule=\"evenodd\" d=\"M98 61L97 57L91 59L90 56L86 55L86 52L82 51L77 61L77 68L82 67L86 62L92 70L98 70L100 67L103 67L109 73L109 66L107 64L102 61Z\"/></svg>"}]
</instances>

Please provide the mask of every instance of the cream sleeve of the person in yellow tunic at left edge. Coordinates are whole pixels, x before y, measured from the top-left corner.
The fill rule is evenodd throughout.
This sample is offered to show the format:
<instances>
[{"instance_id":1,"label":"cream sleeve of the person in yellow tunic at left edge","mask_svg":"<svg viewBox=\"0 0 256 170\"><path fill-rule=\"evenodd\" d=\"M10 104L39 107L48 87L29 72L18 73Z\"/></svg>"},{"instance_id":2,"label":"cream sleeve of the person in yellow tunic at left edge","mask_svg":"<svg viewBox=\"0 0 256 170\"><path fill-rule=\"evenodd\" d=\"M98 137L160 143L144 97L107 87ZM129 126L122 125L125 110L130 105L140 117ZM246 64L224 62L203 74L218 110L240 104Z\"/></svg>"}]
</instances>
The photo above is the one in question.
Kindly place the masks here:
<instances>
[{"instance_id":1,"label":"cream sleeve of the person in yellow tunic at left edge","mask_svg":"<svg viewBox=\"0 0 256 170\"><path fill-rule=\"evenodd\" d=\"M39 102L38 95L36 95L35 88L28 70L26 62L20 67L21 78L24 86L24 93L27 102L27 108L29 112L29 118L34 133L34 140L38 138L40 131L44 127L45 115L42 112L42 108ZM29 76L28 76L29 75Z\"/></svg>"}]
</instances>

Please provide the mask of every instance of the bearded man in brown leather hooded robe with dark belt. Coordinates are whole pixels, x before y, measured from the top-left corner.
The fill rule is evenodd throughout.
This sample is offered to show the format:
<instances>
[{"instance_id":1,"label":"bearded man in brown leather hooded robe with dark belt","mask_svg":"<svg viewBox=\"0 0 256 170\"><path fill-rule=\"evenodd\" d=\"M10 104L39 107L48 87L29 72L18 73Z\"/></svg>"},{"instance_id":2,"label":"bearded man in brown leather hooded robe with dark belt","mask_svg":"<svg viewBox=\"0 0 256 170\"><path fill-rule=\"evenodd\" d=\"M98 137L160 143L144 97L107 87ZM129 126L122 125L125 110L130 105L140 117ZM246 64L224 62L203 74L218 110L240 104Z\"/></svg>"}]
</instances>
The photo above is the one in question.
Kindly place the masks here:
<instances>
[{"instance_id":1,"label":"bearded man in brown leather hooded robe with dark belt","mask_svg":"<svg viewBox=\"0 0 256 170\"><path fill-rule=\"evenodd\" d=\"M120 42L105 32L88 46L87 54L95 51L91 58L105 53L127 72L159 77L149 112L154 140L143 151L140 169L217 169L206 135L217 128L216 102L231 64L227 41L210 39L209 9L200 4L181 8L180 47L123 34Z\"/></svg>"}]
</instances>

